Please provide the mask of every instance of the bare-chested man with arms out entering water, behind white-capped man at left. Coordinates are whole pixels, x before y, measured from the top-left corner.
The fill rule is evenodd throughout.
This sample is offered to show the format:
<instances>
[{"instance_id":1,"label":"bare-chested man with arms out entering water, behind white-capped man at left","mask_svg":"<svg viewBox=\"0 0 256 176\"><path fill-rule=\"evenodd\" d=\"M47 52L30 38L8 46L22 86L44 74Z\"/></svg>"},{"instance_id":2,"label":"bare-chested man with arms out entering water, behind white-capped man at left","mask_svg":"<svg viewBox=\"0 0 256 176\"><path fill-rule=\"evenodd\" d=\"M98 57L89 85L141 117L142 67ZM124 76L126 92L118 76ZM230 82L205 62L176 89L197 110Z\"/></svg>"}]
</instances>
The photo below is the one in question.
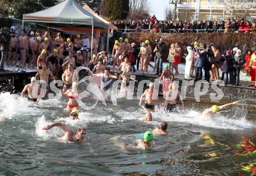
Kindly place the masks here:
<instances>
[{"instance_id":1,"label":"bare-chested man with arms out entering water, behind white-capped man at left","mask_svg":"<svg viewBox=\"0 0 256 176\"><path fill-rule=\"evenodd\" d=\"M35 75L35 78L37 78L37 80L40 80L40 86L41 86L41 90L45 89L45 96L48 96L48 91L49 91L49 76L51 76L51 78L55 81L55 76L52 74L51 71L49 71L49 69L47 69L47 65L46 63L42 64L42 69L37 71L37 75ZM41 82L41 80L44 80L46 83ZM44 91L44 90L43 90Z\"/></svg>"}]
</instances>

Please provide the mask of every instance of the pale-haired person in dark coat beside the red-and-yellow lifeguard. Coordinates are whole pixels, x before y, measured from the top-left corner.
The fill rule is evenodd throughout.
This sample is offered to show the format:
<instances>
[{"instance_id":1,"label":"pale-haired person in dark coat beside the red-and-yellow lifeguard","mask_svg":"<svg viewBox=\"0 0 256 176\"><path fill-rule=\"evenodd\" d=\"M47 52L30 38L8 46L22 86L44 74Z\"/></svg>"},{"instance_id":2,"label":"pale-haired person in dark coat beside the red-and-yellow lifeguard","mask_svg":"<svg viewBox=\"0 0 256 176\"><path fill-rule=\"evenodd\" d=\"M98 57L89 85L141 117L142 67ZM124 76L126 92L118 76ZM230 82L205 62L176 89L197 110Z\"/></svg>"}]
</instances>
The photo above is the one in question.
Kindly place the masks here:
<instances>
[{"instance_id":1,"label":"pale-haired person in dark coat beside the red-and-yellow lifeguard","mask_svg":"<svg viewBox=\"0 0 256 176\"><path fill-rule=\"evenodd\" d=\"M245 63L244 58L241 56L241 50L237 50L236 54L234 54L234 67L236 68L236 72L234 72L234 83L232 85L239 85L240 82L240 70Z\"/></svg>"}]
</instances>

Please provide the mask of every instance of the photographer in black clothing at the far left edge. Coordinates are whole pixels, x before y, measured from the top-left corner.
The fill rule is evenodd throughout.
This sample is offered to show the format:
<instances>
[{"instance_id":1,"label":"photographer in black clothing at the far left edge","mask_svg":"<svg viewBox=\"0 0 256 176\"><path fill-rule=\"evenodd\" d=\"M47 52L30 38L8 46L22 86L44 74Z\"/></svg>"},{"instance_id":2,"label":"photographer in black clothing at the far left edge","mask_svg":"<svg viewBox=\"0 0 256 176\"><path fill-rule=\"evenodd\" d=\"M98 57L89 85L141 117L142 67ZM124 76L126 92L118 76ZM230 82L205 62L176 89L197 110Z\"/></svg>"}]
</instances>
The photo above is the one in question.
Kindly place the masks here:
<instances>
[{"instance_id":1,"label":"photographer in black clothing at the far left edge","mask_svg":"<svg viewBox=\"0 0 256 176\"><path fill-rule=\"evenodd\" d=\"M5 64L7 53L9 52L9 42L10 42L10 30L9 28L1 28L0 31L0 50L1 50L1 61L0 61L0 71L5 71L3 66Z\"/></svg>"}]
</instances>

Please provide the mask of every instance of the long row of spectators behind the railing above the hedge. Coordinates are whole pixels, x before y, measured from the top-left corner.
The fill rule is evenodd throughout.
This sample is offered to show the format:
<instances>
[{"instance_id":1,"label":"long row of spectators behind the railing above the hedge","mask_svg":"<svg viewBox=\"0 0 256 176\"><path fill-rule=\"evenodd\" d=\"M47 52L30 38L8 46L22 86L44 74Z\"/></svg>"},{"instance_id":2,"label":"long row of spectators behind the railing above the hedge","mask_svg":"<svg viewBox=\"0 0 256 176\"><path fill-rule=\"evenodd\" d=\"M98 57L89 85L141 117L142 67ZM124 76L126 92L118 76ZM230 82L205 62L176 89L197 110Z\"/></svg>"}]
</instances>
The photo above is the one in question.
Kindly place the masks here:
<instances>
[{"instance_id":1,"label":"long row of spectators behind the railing above the hedge","mask_svg":"<svg viewBox=\"0 0 256 176\"><path fill-rule=\"evenodd\" d=\"M244 32L256 34L256 21L244 19L192 20L192 21L159 21L155 16L143 20L114 21L114 25L122 32L151 31L159 33L173 32Z\"/></svg>"}]
</instances>

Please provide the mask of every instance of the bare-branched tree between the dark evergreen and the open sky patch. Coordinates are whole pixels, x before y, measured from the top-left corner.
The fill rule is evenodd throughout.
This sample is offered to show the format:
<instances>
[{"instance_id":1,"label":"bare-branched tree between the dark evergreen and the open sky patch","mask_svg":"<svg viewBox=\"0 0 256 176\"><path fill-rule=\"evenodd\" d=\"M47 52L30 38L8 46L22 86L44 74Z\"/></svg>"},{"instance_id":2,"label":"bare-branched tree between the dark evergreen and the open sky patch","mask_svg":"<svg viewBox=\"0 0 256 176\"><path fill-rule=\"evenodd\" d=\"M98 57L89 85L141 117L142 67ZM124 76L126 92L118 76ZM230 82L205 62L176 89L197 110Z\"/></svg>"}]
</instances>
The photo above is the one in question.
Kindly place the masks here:
<instances>
[{"instance_id":1,"label":"bare-branched tree between the dark evergreen and the open sky patch","mask_svg":"<svg viewBox=\"0 0 256 176\"><path fill-rule=\"evenodd\" d=\"M128 15L131 19L145 19L150 17L150 2L148 0L130 0L130 13Z\"/></svg>"}]
</instances>

